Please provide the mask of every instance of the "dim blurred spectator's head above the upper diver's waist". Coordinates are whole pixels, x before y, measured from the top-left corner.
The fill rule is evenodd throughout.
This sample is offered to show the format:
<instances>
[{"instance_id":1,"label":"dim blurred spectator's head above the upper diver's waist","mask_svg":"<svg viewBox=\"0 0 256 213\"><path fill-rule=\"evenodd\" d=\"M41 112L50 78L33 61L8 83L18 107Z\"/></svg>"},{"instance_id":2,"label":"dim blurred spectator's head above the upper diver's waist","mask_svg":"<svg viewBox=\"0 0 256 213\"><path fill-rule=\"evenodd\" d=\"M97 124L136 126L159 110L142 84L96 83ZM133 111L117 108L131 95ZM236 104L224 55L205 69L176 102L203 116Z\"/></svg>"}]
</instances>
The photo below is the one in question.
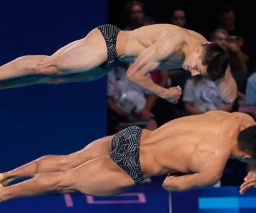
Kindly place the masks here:
<instances>
[{"instance_id":1,"label":"dim blurred spectator's head above the upper diver's waist","mask_svg":"<svg viewBox=\"0 0 256 213\"><path fill-rule=\"evenodd\" d=\"M124 30L132 31L136 28L141 27L142 21L144 20L144 4L140 1L128 1L125 6L127 13L127 25Z\"/></svg>"}]
</instances>

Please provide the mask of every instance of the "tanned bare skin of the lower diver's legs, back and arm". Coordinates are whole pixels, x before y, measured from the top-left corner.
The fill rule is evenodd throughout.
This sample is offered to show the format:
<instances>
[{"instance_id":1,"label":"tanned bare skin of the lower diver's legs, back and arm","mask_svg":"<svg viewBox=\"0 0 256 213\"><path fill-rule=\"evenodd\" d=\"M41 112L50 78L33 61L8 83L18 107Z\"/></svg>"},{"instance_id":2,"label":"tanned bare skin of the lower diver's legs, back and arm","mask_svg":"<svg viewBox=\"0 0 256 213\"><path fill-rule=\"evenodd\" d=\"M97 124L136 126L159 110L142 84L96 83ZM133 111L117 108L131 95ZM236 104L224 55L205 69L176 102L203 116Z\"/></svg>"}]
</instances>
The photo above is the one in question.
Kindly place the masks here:
<instances>
[{"instance_id":1,"label":"tanned bare skin of the lower diver's legs, back and arm","mask_svg":"<svg viewBox=\"0 0 256 213\"><path fill-rule=\"evenodd\" d=\"M255 121L247 114L210 111L142 131L140 162L144 178L167 175L166 190L188 190L220 180L228 158L250 155L238 149L239 131ZM109 157L113 136L100 138L70 155L47 155L0 174L0 200L46 192L80 191L89 195L115 195L134 181ZM30 180L8 185L14 178Z\"/></svg>"}]
</instances>

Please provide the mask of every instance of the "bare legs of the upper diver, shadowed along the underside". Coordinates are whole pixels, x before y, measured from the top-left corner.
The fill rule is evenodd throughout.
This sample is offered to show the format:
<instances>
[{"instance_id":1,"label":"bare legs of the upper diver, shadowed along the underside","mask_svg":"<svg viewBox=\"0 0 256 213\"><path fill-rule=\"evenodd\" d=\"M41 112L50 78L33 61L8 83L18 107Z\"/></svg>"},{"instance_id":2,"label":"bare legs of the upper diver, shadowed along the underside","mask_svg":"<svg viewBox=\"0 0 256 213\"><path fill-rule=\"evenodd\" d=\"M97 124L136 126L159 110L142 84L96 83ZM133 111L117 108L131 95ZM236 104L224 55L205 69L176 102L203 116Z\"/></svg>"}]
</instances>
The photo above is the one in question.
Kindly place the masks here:
<instances>
[{"instance_id":1,"label":"bare legs of the upper diver, shadowed along the underside","mask_svg":"<svg viewBox=\"0 0 256 213\"><path fill-rule=\"evenodd\" d=\"M88 33L85 38L60 48L51 56L31 55L17 58L0 67L0 89L20 87L28 84L68 82L56 81L58 76L70 75L72 81L78 80L83 72L92 72L85 76L97 79L95 72L102 71L100 65L107 60L107 47L100 31ZM99 68L99 69L97 69ZM78 73L78 77L73 74ZM102 75L102 73L98 73Z\"/></svg>"}]
</instances>

